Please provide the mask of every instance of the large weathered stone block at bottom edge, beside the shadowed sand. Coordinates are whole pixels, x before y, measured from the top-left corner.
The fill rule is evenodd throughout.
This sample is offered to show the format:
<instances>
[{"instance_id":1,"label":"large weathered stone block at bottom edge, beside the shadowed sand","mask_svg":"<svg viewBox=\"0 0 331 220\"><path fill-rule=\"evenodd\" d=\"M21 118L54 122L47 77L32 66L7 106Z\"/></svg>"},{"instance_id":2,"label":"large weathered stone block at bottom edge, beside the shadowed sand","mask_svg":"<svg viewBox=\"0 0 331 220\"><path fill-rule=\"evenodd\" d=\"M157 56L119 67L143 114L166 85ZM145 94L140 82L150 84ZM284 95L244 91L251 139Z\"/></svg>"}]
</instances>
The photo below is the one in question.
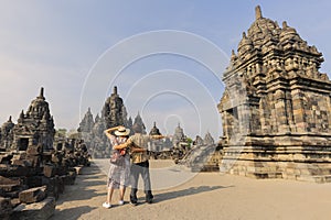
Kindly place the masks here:
<instances>
[{"instance_id":1,"label":"large weathered stone block at bottom edge, beside the shadowed sand","mask_svg":"<svg viewBox=\"0 0 331 220\"><path fill-rule=\"evenodd\" d=\"M20 220L45 220L55 211L55 199L47 197L46 199L30 205L21 204L13 209L12 219Z\"/></svg>"}]
</instances>

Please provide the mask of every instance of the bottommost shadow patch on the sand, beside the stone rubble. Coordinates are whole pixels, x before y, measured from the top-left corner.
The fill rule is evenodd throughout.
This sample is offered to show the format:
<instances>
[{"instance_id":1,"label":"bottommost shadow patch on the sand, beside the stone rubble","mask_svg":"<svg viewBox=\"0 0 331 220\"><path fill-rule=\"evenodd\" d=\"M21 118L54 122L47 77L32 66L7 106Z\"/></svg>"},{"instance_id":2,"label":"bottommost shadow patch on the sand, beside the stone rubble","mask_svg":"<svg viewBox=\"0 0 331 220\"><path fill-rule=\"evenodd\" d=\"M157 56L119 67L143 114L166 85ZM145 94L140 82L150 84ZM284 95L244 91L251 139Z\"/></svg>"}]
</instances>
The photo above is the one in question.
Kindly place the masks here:
<instances>
[{"instance_id":1,"label":"bottommost shadow patch on the sand, beside the stone rubble","mask_svg":"<svg viewBox=\"0 0 331 220\"><path fill-rule=\"evenodd\" d=\"M96 208L89 206L81 206L71 209L55 210L54 215L49 220L76 220L82 215L88 213ZM70 218L68 218L70 217Z\"/></svg>"}]
</instances>

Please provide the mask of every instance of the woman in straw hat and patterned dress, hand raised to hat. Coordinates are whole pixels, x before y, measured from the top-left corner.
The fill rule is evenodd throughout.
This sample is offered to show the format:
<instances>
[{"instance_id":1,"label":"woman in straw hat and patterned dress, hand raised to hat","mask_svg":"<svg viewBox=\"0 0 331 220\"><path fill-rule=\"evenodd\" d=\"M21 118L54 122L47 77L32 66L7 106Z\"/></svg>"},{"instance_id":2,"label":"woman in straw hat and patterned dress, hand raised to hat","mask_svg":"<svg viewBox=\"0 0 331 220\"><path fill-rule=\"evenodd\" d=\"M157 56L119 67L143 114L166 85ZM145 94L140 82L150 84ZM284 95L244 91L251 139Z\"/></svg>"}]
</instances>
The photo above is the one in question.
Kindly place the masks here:
<instances>
[{"instance_id":1,"label":"woman in straw hat and patterned dress, hand raised to hat","mask_svg":"<svg viewBox=\"0 0 331 220\"><path fill-rule=\"evenodd\" d=\"M115 131L115 132L114 132ZM114 134L111 133L114 132ZM110 140L113 145L113 151L120 151L117 153L121 154L120 163L110 163L109 173L108 173L108 193L107 201L103 204L103 207L109 209L111 207L111 197L114 189L119 188L119 201L118 205L124 205L124 196L126 191L126 186L129 183L130 175L130 156L129 153L124 150L117 150L117 146L125 143L129 136L130 130L125 127L115 127L104 131L107 138Z\"/></svg>"}]
</instances>

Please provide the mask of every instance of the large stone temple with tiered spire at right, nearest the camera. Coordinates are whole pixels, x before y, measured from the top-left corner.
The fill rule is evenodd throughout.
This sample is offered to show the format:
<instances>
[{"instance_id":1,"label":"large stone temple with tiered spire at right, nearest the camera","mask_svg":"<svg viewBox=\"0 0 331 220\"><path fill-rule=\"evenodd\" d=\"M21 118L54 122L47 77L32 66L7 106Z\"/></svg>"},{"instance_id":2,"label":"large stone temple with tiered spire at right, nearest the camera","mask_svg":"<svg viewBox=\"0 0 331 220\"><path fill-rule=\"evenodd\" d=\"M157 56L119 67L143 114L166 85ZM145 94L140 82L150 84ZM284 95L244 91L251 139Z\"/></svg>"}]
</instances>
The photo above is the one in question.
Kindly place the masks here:
<instances>
[{"instance_id":1,"label":"large stone temple with tiered spire at right, nearest the camera","mask_svg":"<svg viewBox=\"0 0 331 220\"><path fill-rule=\"evenodd\" d=\"M223 75L225 172L331 182L331 81L322 54L282 22L256 18Z\"/></svg>"}]
</instances>

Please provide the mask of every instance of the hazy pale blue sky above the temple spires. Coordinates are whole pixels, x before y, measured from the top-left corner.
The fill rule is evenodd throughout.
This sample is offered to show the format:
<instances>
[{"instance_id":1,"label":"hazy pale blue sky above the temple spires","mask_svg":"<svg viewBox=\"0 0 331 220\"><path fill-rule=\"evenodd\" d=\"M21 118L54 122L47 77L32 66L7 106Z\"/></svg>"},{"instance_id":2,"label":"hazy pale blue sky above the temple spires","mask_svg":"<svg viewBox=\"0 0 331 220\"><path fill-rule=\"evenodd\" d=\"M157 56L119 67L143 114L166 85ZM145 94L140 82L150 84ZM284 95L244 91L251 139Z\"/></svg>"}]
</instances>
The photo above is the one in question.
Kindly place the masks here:
<instances>
[{"instance_id":1,"label":"hazy pale blue sky above the temple spires","mask_svg":"<svg viewBox=\"0 0 331 220\"><path fill-rule=\"evenodd\" d=\"M99 113L118 86L129 116L150 130L178 122L194 138L221 134L222 72L242 32L263 15L287 21L323 53L331 70L331 2L320 1L0 1L0 123L45 88L56 128Z\"/></svg>"}]
</instances>

